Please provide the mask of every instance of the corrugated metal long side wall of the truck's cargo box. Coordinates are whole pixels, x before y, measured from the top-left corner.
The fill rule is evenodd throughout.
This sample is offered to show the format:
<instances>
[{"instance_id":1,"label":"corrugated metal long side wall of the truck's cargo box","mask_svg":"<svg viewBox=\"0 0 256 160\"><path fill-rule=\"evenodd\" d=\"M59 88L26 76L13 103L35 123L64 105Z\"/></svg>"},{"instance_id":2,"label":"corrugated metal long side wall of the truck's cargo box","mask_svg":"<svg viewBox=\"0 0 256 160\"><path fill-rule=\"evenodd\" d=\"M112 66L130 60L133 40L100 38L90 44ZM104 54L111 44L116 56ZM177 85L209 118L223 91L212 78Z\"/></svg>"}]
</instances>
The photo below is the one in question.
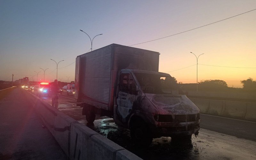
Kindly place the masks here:
<instances>
[{"instance_id":1,"label":"corrugated metal long side wall of the truck's cargo box","mask_svg":"<svg viewBox=\"0 0 256 160\"><path fill-rule=\"evenodd\" d=\"M111 46L81 55L80 96L108 110ZM97 106L98 106L97 105Z\"/></svg>"}]
</instances>

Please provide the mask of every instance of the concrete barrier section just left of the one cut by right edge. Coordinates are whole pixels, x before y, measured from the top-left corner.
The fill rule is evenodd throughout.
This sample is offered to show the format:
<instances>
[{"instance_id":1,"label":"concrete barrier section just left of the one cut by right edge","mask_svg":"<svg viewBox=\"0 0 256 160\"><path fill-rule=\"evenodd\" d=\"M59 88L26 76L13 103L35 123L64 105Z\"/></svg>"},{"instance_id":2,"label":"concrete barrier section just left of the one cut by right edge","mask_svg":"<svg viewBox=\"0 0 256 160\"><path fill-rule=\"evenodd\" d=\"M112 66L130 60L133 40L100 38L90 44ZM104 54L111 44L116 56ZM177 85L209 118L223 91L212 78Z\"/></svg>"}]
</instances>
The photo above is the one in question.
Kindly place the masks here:
<instances>
[{"instance_id":1,"label":"concrete barrier section just left of the one cut by right edge","mask_svg":"<svg viewBox=\"0 0 256 160\"><path fill-rule=\"evenodd\" d=\"M244 118L246 106L246 102L223 101L221 115Z\"/></svg>"}]
</instances>

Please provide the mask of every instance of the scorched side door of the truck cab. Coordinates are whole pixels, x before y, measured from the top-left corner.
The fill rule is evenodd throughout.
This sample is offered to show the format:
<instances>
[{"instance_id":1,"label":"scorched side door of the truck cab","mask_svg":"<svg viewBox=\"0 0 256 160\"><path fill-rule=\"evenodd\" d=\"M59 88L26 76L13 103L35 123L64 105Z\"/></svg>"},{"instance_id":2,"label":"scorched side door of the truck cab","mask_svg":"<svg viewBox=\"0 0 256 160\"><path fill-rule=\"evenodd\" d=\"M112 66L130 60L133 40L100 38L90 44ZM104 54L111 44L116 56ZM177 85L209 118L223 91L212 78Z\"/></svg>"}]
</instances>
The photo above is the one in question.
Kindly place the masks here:
<instances>
[{"instance_id":1,"label":"scorched side door of the truck cab","mask_svg":"<svg viewBox=\"0 0 256 160\"><path fill-rule=\"evenodd\" d=\"M116 100L118 119L124 124L128 123L132 107L137 99L136 83L130 73L122 73L119 78L119 92Z\"/></svg>"}]
</instances>

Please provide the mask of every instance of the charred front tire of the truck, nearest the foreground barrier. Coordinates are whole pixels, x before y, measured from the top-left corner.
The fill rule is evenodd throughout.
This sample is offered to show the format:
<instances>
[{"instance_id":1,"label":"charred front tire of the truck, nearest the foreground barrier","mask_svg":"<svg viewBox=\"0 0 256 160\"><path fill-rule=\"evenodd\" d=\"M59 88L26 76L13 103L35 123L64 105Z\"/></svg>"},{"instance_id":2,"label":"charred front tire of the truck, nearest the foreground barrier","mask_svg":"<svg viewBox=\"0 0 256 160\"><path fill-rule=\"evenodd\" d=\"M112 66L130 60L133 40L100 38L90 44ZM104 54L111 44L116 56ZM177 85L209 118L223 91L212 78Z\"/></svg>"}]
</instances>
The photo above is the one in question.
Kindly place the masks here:
<instances>
[{"instance_id":1,"label":"charred front tire of the truck, nearest the foreground barrier","mask_svg":"<svg viewBox=\"0 0 256 160\"><path fill-rule=\"evenodd\" d=\"M131 126L131 137L132 141L143 147L148 147L153 140L151 131L149 130L146 123L136 123L134 122Z\"/></svg>"}]
</instances>

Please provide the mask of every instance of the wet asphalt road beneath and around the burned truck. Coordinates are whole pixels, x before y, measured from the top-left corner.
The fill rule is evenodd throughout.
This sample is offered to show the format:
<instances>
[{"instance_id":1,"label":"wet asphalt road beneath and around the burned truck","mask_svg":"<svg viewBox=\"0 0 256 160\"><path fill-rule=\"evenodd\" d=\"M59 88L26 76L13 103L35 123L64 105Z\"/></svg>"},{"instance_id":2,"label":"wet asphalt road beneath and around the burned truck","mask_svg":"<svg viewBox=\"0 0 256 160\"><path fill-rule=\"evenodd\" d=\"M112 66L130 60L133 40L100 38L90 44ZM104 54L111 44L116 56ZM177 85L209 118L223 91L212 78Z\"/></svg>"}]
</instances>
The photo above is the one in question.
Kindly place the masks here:
<instances>
[{"instance_id":1,"label":"wet asphalt road beneath and around the burned truck","mask_svg":"<svg viewBox=\"0 0 256 160\"><path fill-rule=\"evenodd\" d=\"M42 100L51 104L49 97ZM256 159L254 122L201 114L199 135L193 135L190 142L161 137L148 148L140 148L131 143L130 131L117 126L112 118L96 117L93 124L87 124L72 96L59 95L58 109L142 159Z\"/></svg>"}]
</instances>

